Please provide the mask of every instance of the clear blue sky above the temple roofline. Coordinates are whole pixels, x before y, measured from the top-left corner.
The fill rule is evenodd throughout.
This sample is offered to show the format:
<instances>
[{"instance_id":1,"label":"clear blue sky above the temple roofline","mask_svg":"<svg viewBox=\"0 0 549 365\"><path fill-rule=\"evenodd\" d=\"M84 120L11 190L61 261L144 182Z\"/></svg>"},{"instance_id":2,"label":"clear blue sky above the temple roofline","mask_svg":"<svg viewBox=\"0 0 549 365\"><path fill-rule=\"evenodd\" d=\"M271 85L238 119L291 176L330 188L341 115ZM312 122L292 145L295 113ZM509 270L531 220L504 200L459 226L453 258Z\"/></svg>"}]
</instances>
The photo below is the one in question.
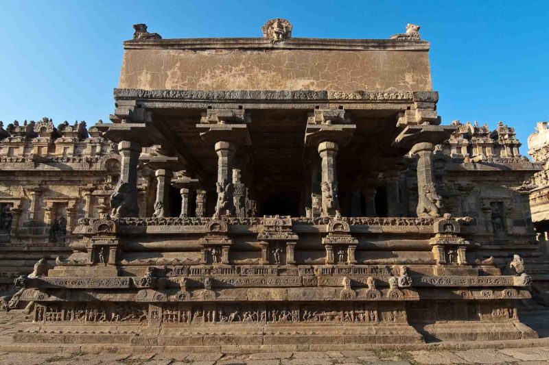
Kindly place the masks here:
<instances>
[{"instance_id":1,"label":"clear blue sky above the temple roofline","mask_svg":"<svg viewBox=\"0 0 549 365\"><path fill-rule=\"evenodd\" d=\"M430 40L443 123L504 121L523 142L549 119L549 1L0 0L0 120L108 120L132 24L163 38L253 37L270 18L295 37Z\"/></svg>"}]
</instances>

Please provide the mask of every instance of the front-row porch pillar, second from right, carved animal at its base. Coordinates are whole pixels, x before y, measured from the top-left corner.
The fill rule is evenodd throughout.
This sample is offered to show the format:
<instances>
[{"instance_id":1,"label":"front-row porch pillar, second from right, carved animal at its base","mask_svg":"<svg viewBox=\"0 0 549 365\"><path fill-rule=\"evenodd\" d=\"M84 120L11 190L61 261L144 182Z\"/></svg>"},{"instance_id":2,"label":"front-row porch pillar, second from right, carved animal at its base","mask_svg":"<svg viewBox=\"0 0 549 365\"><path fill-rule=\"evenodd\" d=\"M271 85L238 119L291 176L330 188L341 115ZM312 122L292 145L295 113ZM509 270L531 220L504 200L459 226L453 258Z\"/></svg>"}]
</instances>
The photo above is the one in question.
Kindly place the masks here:
<instances>
[{"instance_id":1,"label":"front-row porch pillar, second from right, carved animal at its base","mask_svg":"<svg viewBox=\"0 0 549 365\"><path fill-rule=\"evenodd\" d=\"M318 153L322 162L320 191L322 192L321 216L334 216L339 210L338 202L338 176L336 155L338 144L336 142L321 142L318 144Z\"/></svg>"}]
</instances>

